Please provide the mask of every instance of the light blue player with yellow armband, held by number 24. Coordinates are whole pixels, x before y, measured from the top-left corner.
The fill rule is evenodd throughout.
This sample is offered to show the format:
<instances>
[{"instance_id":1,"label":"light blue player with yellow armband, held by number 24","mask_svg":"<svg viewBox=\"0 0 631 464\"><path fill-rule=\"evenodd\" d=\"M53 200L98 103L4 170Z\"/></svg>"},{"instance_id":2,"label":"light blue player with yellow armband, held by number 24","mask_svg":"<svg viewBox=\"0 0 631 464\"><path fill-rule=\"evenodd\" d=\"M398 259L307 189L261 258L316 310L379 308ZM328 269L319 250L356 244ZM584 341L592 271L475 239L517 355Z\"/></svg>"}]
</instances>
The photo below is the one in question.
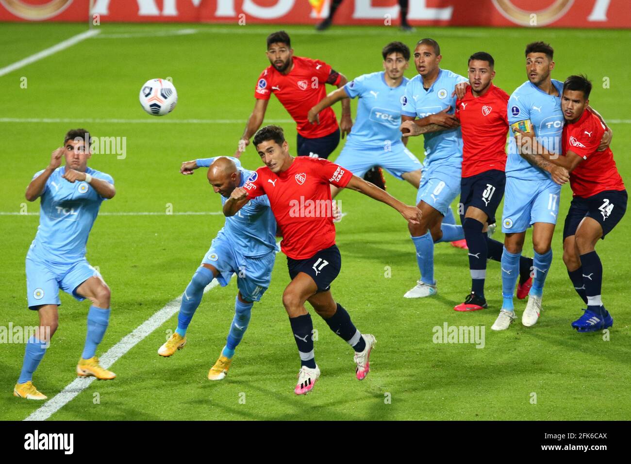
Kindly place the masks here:
<instances>
[{"instance_id":1,"label":"light blue player with yellow armband, held by number 24","mask_svg":"<svg viewBox=\"0 0 631 464\"><path fill-rule=\"evenodd\" d=\"M526 45L528 81L512 93L508 104L510 124L509 152L506 162L506 189L502 232L505 234L502 253L502 309L493 330L505 330L516 319L513 293L518 277L519 261L526 230L533 226L533 283L522 324L533 326L541 314L543 285L552 262L552 235L557 223L558 204L563 181L563 168L538 157L532 150L538 146L558 155L561 151L563 83L551 78L555 67L554 51L549 44ZM516 133L514 128L523 133ZM517 148L516 134L524 145Z\"/></svg>"}]
</instances>

